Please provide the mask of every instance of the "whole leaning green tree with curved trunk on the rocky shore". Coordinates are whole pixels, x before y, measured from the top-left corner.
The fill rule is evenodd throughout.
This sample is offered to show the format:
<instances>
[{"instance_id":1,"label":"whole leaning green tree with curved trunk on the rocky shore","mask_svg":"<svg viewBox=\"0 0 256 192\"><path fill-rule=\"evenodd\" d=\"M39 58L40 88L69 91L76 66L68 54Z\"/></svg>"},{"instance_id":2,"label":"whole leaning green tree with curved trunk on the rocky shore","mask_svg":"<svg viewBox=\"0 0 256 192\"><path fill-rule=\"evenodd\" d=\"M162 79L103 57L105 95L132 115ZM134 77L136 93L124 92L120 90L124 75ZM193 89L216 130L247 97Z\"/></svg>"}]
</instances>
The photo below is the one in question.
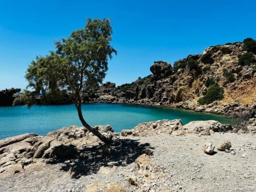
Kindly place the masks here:
<instances>
[{"instance_id":1,"label":"whole leaning green tree with curved trunk on the rocky shore","mask_svg":"<svg viewBox=\"0 0 256 192\"><path fill-rule=\"evenodd\" d=\"M29 65L25 78L27 88L20 97L28 106L47 105L68 94L75 105L83 126L105 144L111 138L92 128L82 114L83 98L102 83L108 70L108 59L116 50L110 46L112 28L108 19L87 20L84 29L73 31L66 39L55 42L56 51L46 57L36 57ZM15 101L14 101L15 104Z\"/></svg>"}]
</instances>

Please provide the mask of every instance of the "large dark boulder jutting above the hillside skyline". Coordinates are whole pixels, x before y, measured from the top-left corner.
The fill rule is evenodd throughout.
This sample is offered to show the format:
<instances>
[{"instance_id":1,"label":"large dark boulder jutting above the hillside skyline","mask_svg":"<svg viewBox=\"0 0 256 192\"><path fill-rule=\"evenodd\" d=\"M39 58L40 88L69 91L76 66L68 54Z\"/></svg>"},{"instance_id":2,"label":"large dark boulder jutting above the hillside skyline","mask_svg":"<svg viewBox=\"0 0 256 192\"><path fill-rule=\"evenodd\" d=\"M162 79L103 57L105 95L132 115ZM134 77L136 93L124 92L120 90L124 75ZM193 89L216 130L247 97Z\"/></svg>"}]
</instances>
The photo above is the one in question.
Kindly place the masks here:
<instances>
[{"instance_id":1,"label":"large dark boulder jutting above the hillside skyline","mask_svg":"<svg viewBox=\"0 0 256 192\"><path fill-rule=\"evenodd\" d=\"M174 73L171 64L164 61L155 61L150 71L157 79L166 78Z\"/></svg>"}]
</instances>

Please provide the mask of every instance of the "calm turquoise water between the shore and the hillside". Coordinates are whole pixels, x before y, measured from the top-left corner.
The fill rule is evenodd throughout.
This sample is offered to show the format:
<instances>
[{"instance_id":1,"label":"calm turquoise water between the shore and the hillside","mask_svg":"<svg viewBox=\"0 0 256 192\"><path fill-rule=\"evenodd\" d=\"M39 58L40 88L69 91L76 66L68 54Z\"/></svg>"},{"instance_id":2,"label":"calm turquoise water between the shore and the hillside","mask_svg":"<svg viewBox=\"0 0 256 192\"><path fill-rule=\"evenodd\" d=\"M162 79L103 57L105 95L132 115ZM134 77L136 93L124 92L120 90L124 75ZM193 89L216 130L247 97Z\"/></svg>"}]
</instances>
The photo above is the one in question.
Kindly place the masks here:
<instances>
[{"instance_id":1,"label":"calm turquoise water between the shore and the hillside","mask_svg":"<svg viewBox=\"0 0 256 192\"><path fill-rule=\"evenodd\" d=\"M84 104L83 114L90 125L110 124L115 132L132 129L141 122L162 119L182 119L183 124L193 120L219 120L232 123L223 116L174 108L143 107L123 104ZM82 126L73 105L0 107L0 139L27 132L47 134L69 125Z\"/></svg>"}]
</instances>

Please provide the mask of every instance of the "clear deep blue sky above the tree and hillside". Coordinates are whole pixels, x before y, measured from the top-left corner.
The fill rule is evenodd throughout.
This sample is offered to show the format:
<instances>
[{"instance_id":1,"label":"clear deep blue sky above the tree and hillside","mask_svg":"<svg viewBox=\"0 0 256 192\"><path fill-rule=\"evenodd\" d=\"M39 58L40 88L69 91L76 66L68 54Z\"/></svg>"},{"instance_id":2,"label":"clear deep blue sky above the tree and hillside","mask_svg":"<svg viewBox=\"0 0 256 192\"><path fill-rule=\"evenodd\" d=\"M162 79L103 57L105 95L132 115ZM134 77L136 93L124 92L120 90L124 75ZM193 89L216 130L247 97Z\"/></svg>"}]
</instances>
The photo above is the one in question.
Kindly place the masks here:
<instances>
[{"instance_id":1,"label":"clear deep blue sky above the tree and hillside","mask_svg":"<svg viewBox=\"0 0 256 192\"><path fill-rule=\"evenodd\" d=\"M112 46L105 81L117 85L150 74L155 60L174 61L204 48L256 38L255 0L0 0L0 89L25 88L31 60L54 40L111 18Z\"/></svg>"}]
</instances>

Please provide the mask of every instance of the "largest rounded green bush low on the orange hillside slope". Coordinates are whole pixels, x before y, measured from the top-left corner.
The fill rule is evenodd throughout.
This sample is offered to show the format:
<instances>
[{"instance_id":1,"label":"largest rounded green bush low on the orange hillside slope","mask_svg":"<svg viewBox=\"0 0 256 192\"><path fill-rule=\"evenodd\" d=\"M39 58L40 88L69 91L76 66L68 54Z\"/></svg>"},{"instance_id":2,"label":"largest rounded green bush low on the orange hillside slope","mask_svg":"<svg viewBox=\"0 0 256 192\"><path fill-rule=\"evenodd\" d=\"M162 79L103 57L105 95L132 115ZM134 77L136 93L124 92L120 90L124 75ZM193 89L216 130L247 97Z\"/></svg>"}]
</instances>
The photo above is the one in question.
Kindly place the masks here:
<instances>
[{"instance_id":1,"label":"largest rounded green bush low on the orange hillside slope","mask_svg":"<svg viewBox=\"0 0 256 192\"><path fill-rule=\"evenodd\" d=\"M207 90L205 96L198 100L200 105L210 104L216 100L221 100L224 98L224 89L219 86L219 84L214 84L210 86Z\"/></svg>"}]
</instances>

